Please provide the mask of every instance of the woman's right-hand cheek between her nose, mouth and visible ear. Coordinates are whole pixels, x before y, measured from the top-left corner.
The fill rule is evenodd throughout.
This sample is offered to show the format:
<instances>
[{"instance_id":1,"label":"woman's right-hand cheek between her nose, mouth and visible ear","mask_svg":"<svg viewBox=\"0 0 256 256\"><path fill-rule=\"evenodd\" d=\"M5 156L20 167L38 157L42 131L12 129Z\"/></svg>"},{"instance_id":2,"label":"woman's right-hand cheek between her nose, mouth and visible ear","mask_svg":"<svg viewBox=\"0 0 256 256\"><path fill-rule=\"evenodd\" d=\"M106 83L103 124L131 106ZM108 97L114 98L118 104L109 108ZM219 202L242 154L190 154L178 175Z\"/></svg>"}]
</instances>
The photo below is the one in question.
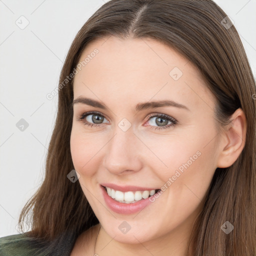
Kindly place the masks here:
<instances>
[{"instance_id":1,"label":"woman's right-hand cheek between her nose, mouth and visible ear","mask_svg":"<svg viewBox=\"0 0 256 256\"><path fill-rule=\"evenodd\" d=\"M175 198L194 197L197 200L204 196L216 168L214 134L213 128L195 129L191 126L186 133L173 132L172 136L146 141L158 157L151 155L152 160L147 156L151 158L148 163L166 190L172 187Z\"/></svg>"}]
</instances>

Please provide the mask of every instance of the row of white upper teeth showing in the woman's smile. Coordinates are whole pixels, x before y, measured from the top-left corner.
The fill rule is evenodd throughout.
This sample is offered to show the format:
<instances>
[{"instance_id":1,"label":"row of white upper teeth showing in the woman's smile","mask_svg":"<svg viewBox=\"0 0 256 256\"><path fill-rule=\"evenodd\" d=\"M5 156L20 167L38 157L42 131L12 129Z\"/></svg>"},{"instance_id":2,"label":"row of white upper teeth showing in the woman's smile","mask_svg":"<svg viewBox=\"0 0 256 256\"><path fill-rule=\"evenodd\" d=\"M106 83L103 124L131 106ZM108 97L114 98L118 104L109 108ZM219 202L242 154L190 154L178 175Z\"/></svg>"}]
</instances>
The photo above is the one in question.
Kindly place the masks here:
<instances>
[{"instance_id":1,"label":"row of white upper teeth showing in the woman's smile","mask_svg":"<svg viewBox=\"0 0 256 256\"><path fill-rule=\"evenodd\" d=\"M149 195L155 194L155 190L144 190L144 191L127 191L122 192L118 190L114 190L113 188L106 187L107 194L111 196L116 201L124 201L124 202L135 202L141 200L142 198L146 199Z\"/></svg>"}]
</instances>

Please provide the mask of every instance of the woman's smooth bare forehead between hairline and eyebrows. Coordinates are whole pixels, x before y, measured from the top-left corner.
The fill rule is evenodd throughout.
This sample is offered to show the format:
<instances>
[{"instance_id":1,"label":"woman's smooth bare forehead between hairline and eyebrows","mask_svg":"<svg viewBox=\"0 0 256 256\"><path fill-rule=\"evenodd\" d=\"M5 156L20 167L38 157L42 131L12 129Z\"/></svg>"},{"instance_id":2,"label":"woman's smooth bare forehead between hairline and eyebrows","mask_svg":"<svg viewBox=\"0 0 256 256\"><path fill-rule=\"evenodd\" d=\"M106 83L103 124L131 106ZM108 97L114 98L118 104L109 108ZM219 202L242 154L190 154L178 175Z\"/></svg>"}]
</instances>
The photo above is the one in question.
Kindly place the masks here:
<instances>
[{"instance_id":1,"label":"woman's smooth bare forehead between hairline and eyebrows","mask_svg":"<svg viewBox=\"0 0 256 256\"><path fill-rule=\"evenodd\" d=\"M74 98L92 92L105 96L111 91L126 99L173 95L214 106L214 96L198 69L175 49L154 39L99 38L86 45L79 63Z\"/></svg>"}]
</instances>

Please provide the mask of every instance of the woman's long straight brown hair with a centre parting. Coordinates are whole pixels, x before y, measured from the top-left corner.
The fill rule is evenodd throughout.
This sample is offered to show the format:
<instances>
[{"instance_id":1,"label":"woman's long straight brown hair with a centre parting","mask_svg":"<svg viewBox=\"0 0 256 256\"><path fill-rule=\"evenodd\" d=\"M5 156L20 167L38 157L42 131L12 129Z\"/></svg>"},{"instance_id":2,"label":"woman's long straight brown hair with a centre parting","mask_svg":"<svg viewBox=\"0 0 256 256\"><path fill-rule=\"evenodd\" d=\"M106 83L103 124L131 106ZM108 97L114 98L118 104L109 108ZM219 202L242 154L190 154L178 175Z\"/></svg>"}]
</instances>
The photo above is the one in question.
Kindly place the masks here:
<instances>
[{"instance_id":1,"label":"woman's long straight brown hair with a centre parting","mask_svg":"<svg viewBox=\"0 0 256 256\"><path fill-rule=\"evenodd\" d=\"M59 77L60 84L92 40L111 35L148 37L176 49L199 69L216 97L219 127L230 122L237 108L244 111L244 148L231 166L215 170L203 210L193 226L190 243L196 256L256 255L255 80L239 35L226 16L212 0L110 0L78 31ZM69 230L77 237L98 223L79 182L67 178L74 169L69 144L72 83L70 79L59 87L45 178L19 217L21 230L22 221L30 221L30 233L46 240ZM225 221L234 226L229 234L220 228Z\"/></svg>"}]
</instances>

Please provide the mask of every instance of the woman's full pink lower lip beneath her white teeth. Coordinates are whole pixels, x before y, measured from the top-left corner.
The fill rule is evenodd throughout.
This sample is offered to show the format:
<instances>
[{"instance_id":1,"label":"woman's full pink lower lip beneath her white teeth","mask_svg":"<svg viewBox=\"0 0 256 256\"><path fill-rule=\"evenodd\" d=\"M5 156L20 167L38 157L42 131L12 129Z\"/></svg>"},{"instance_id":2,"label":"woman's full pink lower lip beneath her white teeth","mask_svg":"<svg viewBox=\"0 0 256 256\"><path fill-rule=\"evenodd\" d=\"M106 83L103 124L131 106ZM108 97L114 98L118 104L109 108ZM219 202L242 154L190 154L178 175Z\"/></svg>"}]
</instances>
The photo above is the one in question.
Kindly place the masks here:
<instances>
[{"instance_id":1,"label":"woman's full pink lower lip beneath her white teeth","mask_svg":"<svg viewBox=\"0 0 256 256\"><path fill-rule=\"evenodd\" d=\"M153 195L151 195L151 196L147 197L146 199L142 199L142 200L139 200L134 203L122 203L122 202L118 202L118 201L114 200L111 196L109 196L103 186L100 185L100 187L101 187L106 205L112 211L114 211L116 213L120 213L120 214L132 214L132 213L142 210L144 207L146 207L148 204L151 203L149 198L151 196L153 196Z\"/></svg>"}]
</instances>

